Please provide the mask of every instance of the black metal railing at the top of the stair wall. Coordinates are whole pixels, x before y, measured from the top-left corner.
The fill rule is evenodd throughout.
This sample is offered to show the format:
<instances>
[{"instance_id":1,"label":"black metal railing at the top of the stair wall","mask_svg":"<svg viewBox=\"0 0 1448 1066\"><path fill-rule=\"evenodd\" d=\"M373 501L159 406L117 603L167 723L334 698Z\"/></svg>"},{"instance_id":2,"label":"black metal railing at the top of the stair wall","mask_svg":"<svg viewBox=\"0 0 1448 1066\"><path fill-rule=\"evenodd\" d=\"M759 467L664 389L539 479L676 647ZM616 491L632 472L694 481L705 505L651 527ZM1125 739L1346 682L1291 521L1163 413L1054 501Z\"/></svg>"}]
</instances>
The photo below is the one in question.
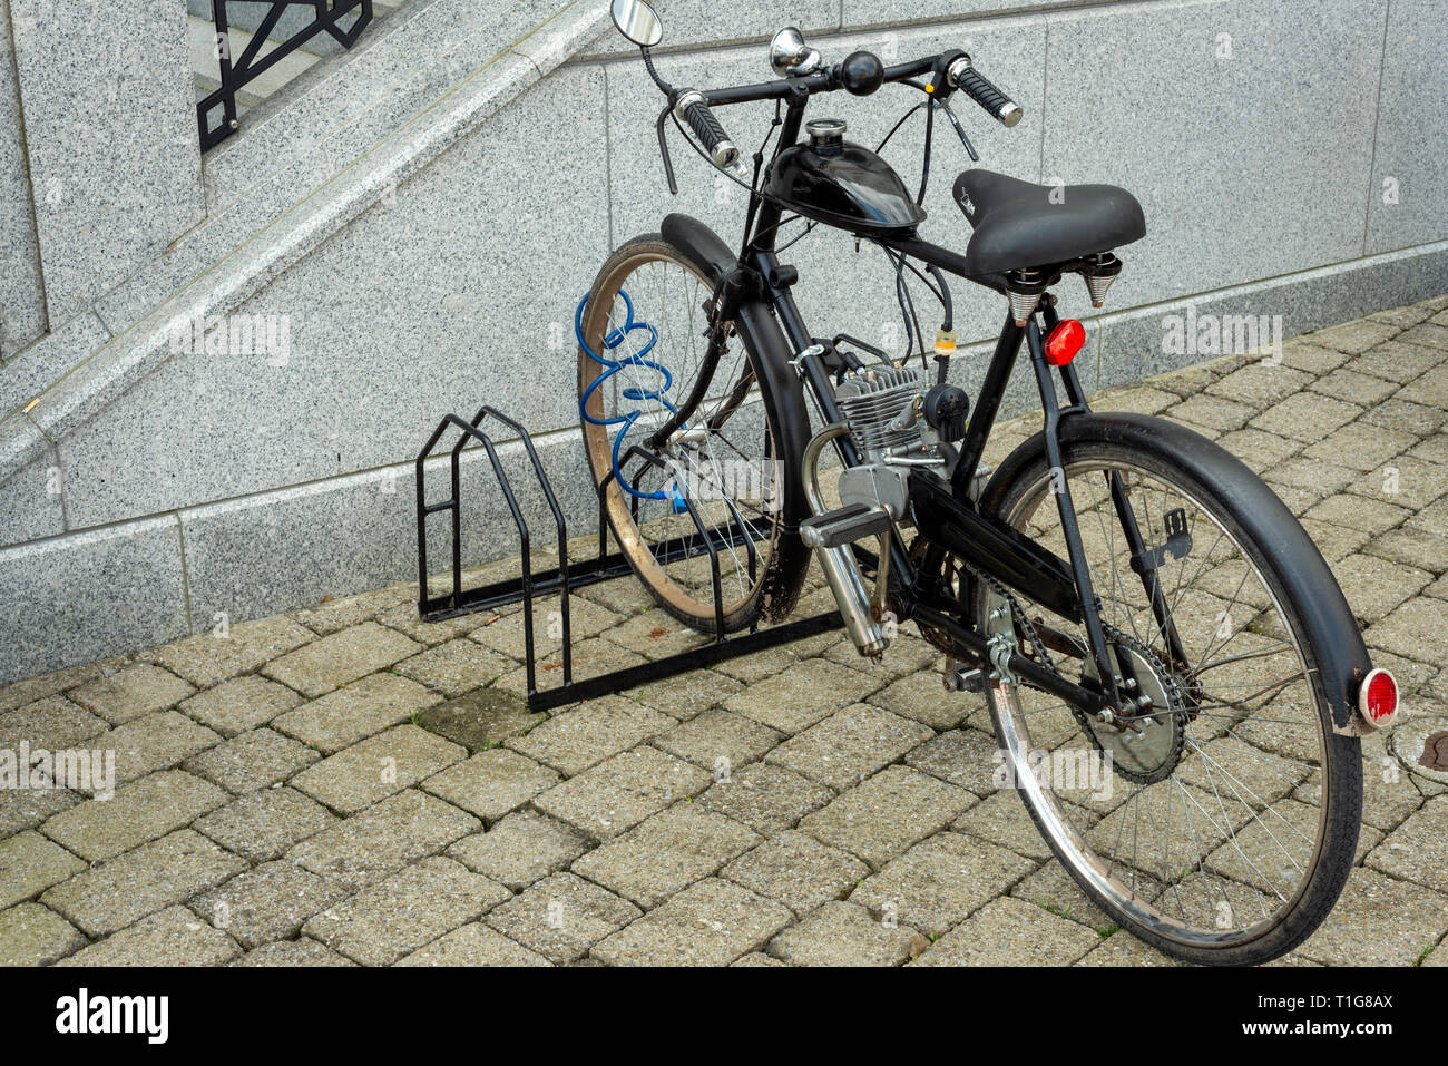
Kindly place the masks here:
<instances>
[{"instance_id":1,"label":"black metal railing at the top of the stair wall","mask_svg":"<svg viewBox=\"0 0 1448 1066\"><path fill-rule=\"evenodd\" d=\"M251 81L265 74L321 32L330 33L343 48L352 48L358 38L362 36L362 30L372 22L372 0L274 0L271 10L266 12L256 29L252 30L251 42L242 49L240 55L233 55L226 4L246 3L255 7L264 1L266 0L211 0L211 16L216 22L216 58L220 68L222 87L203 97L195 106L195 122L201 133L203 152L222 143L240 129L240 120L236 114L236 94ZM291 7L311 7L316 10L316 19L290 38L274 42L271 51L266 55L261 55L261 51L271 39L272 30L277 29L277 22ZM353 13L355 22L343 29L342 23L352 17Z\"/></svg>"}]
</instances>

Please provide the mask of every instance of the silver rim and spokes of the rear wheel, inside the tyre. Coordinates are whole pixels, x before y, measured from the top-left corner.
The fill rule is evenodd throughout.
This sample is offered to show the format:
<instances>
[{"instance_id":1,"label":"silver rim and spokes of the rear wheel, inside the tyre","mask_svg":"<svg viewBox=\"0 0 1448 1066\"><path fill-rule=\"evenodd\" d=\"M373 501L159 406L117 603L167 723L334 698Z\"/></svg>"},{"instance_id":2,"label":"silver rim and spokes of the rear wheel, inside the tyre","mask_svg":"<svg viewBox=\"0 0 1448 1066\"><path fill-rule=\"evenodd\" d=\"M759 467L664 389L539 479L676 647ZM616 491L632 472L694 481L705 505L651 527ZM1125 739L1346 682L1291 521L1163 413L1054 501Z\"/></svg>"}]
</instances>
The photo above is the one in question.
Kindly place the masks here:
<instances>
[{"instance_id":1,"label":"silver rim and spokes of the rear wheel, inside the tyre","mask_svg":"<svg viewBox=\"0 0 1448 1066\"><path fill-rule=\"evenodd\" d=\"M1112 905L1182 944L1247 943L1293 910L1322 855L1328 750L1306 656L1257 563L1199 497L1158 472L1087 459L1069 463L1066 478L1103 621L1164 650L1141 582L1122 566L1129 552L1108 471L1125 479L1148 547L1167 542L1169 511L1186 511L1190 550L1164 563L1161 582L1189 669L1166 672L1177 684L1197 682L1200 710L1195 720L1171 713L1184 737L1170 775L1140 784L1112 772L1112 795L1100 798L1063 776L1073 757L1077 766L1083 755L1099 759L1076 717L1054 697L992 685L1005 759L1067 866ZM1064 558L1048 488L1043 477L1005 517ZM993 600L985 598L986 613ZM1030 604L1027 611L1044 614ZM1063 629L1085 642L1079 627ZM1080 660L1054 658L1080 681ZM1041 749L1051 753L1044 775L1034 769Z\"/></svg>"}]
</instances>

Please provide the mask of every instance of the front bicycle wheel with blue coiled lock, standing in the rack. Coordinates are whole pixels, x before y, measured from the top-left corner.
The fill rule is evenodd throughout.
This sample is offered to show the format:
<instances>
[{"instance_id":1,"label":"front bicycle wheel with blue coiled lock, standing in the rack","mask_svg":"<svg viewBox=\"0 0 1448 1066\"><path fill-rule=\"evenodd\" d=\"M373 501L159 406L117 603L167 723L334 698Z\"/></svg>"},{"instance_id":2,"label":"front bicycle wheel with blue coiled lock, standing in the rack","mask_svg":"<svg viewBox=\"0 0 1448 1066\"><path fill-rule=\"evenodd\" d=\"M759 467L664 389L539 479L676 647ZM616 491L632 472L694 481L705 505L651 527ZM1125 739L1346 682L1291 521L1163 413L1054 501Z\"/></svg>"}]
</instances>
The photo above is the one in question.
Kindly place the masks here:
<instances>
[{"instance_id":1,"label":"front bicycle wheel with blue coiled lock, standing in the rack","mask_svg":"<svg viewBox=\"0 0 1448 1066\"><path fill-rule=\"evenodd\" d=\"M756 355L728 327L696 408L659 449L649 436L701 388L714 285L657 235L604 264L579 310L579 416L594 484L630 566L679 621L753 624L794 604L808 563L783 536L780 413ZM718 559L718 588L710 552Z\"/></svg>"}]
</instances>

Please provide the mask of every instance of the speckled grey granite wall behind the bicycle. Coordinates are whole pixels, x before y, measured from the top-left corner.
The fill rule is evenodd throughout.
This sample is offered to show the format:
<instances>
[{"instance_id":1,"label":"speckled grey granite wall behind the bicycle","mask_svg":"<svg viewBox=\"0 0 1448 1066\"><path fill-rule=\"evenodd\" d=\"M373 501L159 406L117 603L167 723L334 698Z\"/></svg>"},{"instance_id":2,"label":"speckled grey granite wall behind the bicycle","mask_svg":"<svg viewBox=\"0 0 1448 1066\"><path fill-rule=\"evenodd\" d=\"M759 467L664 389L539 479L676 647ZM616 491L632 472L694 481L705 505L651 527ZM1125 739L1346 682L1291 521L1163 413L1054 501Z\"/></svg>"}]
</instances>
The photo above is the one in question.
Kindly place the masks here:
<instances>
[{"instance_id":1,"label":"speckled grey granite wall behind the bicycle","mask_svg":"<svg viewBox=\"0 0 1448 1066\"><path fill-rule=\"evenodd\" d=\"M9 0L16 12L45 1ZM1448 29L1431 0L930 0L925 17L918 0L660 7L659 68L676 84L770 77L765 42L785 22L807 28L831 61L857 48L896 59L966 48L1027 116L1005 130L961 101L980 165L1135 191L1150 232L1122 252L1108 311L1090 314L1083 288L1063 291L1066 313L1089 324L1079 364L1090 387L1190 362L1161 343L1164 316L1189 306L1280 314L1292 336L1448 290L1448 196L1436 180L1436 145L1448 136ZM174 56L152 48L146 64L169 78ZM106 210L123 214L122 190L145 149L67 156L77 119L65 110L75 104L64 78L28 80L23 62L19 74L32 165L48 158L67 181L113 171ZM6 85L0 65L0 198L22 203ZM158 83L153 98L167 91ZM895 87L831 100L817 114L838 113L851 139L873 143L911 103L911 91ZM210 629L219 613L235 621L414 576L411 458L447 411L492 403L534 427L571 532L588 529L571 345L578 298L608 251L656 229L665 211L698 214L727 240L743 220L740 190L715 181L679 142L682 188L669 197L653 133L659 104L637 55L610 30L246 300L237 314L284 324L284 356L177 352L46 440L0 488L10 505L0 543L20 542L0 547L0 646L9 652L0 682ZM180 113L190 122L188 107ZM770 113L724 117L752 145ZM169 122L151 106L117 120ZM36 148L33 129L56 155ZM886 152L908 182L918 180L918 145L912 125ZM943 130L924 227L938 243L963 248L969 238L950 200L967 165ZM22 265L45 265L52 323L127 256L187 224L190 164L159 180L168 209L126 219L114 252L72 248L107 229L100 200L77 203L71 216L42 211L29 246L23 232L19 252L7 243ZM54 287L52 256L68 264ZM898 335L893 275L880 255L817 233L789 261L817 333ZM23 271L4 284L33 295ZM1003 301L964 284L956 297L961 342L979 352ZM26 322L23 297L14 306L14 320ZM982 362L957 359L967 390ZM1028 384L1015 393L1018 408L1030 393ZM515 448L510 456L521 478ZM475 461L468 466L465 555L511 553L497 492ZM529 508L536 530L547 529L537 494ZM443 542L433 550L446 558Z\"/></svg>"}]
</instances>

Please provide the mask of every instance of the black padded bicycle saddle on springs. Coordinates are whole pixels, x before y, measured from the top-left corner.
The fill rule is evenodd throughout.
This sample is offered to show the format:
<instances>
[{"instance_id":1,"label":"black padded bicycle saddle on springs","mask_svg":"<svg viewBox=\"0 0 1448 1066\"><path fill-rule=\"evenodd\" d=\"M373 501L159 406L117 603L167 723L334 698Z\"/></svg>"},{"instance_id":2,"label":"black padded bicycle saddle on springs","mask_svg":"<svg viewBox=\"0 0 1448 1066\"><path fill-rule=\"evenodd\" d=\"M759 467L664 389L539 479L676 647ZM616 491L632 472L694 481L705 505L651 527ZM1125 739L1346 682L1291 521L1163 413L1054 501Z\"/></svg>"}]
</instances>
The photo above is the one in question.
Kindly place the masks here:
<instances>
[{"instance_id":1,"label":"black padded bicycle saddle on springs","mask_svg":"<svg viewBox=\"0 0 1448 1066\"><path fill-rule=\"evenodd\" d=\"M1137 197L1115 185L1034 185L970 169L956 178L956 203L975 230L966 249L972 274L1066 262L1147 233Z\"/></svg>"}]
</instances>

